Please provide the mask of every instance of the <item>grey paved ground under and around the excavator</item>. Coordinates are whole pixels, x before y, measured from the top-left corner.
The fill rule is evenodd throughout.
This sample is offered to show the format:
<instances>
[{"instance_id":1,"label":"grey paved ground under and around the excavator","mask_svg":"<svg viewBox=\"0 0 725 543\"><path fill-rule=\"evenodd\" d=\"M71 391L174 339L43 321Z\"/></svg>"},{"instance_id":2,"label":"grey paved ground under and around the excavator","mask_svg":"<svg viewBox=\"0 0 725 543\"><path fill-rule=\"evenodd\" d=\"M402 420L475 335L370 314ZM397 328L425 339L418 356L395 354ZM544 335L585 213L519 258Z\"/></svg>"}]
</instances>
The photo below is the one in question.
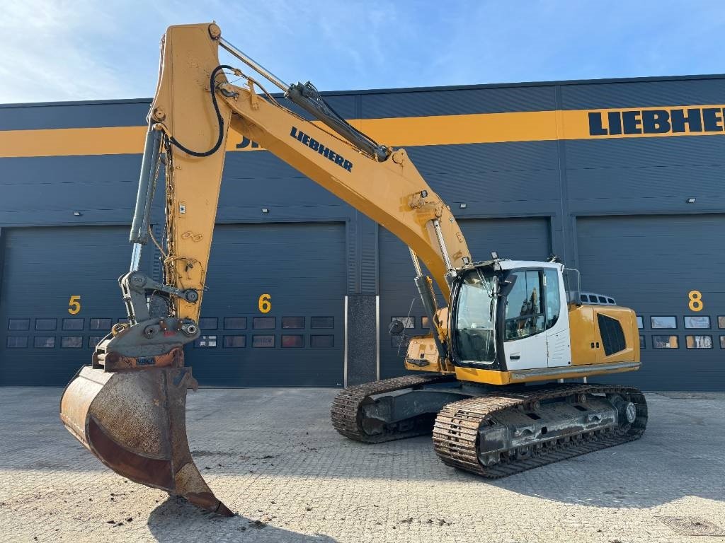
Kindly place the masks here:
<instances>
[{"instance_id":1,"label":"grey paved ground under and around the excavator","mask_svg":"<svg viewBox=\"0 0 725 543\"><path fill-rule=\"evenodd\" d=\"M335 390L190 392L194 459L239 512L215 518L105 468L60 423L60 392L0 388L2 541L725 541L725 395L650 393L639 441L484 481L426 437L339 436Z\"/></svg>"}]
</instances>

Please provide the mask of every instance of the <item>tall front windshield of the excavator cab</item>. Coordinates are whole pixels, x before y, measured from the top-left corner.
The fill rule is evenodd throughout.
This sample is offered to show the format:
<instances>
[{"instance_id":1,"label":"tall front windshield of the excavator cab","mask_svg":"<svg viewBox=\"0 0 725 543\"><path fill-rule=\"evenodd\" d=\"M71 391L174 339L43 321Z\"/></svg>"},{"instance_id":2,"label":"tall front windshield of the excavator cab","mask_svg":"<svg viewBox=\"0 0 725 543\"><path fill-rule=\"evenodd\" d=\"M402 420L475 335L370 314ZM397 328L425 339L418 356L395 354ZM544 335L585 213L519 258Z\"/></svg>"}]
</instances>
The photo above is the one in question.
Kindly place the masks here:
<instances>
[{"instance_id":1,"label":"tall front windshield of the excavator cab","mask_svg":"<svg viewBox=\"0 0 725 543\"><path fill-rule=\"evenodd\" d=\"M492 363L496 359L497 275L473 269L461 281L455 321L458 358L464 362Z\"/></svg>"}]
</instances>

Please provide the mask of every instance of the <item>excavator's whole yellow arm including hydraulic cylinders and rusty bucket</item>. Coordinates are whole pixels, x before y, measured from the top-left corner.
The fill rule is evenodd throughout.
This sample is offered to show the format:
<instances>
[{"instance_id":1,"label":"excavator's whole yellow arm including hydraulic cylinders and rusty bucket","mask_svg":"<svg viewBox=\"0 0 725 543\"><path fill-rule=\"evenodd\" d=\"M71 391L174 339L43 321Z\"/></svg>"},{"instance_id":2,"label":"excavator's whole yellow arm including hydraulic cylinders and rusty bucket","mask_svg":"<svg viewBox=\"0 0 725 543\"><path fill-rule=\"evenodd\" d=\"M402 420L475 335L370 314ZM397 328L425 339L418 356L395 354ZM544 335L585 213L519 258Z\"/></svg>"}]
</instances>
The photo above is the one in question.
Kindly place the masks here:
<instances>
[{"instance_id":1,"label":"excavator's whole yellow arm including hydraulic cylinders and rusty bucket","mask_svg":"<svg viewBox=\"0 0 725 543\"><path fill-rule=\"evenodd\" d=\"M283 106L254 77L220 64L220 46L281 88L313 120ZM246 84L233 85L228 75ZM183 363L183 345L200 333L230 130L259 143L408 245L441 365L447 361L444 310L436 305L421 262L445 297L455 270L471 263L450 209L405 150L364 135L310 83L283 83L225 41L215 23L167 29L130 233L130 270L119 279L129 322L99 343L92 365L70 382L60 415L70 432L117 473L225 515L231 511L204 482L188 449L186 390L195 389L196 381ZM162 165L166 224L163 239L156 240L149 224ZM161 282L139 270L149 240L164 258Z\"/></svg>"}]
</instances>

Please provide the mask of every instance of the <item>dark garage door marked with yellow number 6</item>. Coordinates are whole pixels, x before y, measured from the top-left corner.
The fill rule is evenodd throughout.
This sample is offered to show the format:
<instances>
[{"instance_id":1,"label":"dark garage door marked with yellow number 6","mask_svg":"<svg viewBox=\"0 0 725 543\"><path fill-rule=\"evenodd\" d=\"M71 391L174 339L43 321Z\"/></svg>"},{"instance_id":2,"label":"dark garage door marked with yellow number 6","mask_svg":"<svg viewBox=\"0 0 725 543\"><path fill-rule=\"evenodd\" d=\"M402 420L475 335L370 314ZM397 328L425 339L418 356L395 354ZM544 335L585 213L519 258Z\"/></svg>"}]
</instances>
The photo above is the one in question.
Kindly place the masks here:
<instances>
[{"instance_id":1,"label":"dark garage door marked with yellow number 6","mask_svg":"<svg viewBox=\"0 0 725 543\"><path fill-rule=\"evenodd\" d=\"M341 386L343 223L220 225L202 337L186 349L200 384Z\"/></svg>"}]
</instances>

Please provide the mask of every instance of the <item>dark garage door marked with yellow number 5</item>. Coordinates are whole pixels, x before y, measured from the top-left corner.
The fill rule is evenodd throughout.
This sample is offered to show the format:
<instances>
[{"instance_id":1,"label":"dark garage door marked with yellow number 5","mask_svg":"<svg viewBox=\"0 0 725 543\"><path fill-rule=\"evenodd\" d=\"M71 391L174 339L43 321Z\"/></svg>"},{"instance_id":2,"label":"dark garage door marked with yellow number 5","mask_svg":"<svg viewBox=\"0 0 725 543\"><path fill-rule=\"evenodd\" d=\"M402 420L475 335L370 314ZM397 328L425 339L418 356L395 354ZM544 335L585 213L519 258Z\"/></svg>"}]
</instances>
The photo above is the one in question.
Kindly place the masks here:
<instances>
[{"instance_id":1,"label":"dark garage door marked with yellow number 5","mask_svg":"<svg viewBox=\"0 0 725 543\"><path fill-rule=\"evenodd\" d=\"M117 280L130 263L128 227L16 228L4 237L0 384L65 385L125 317ZM151 256L141 263L147 272Z\"/></svg>"}]
</instances>

